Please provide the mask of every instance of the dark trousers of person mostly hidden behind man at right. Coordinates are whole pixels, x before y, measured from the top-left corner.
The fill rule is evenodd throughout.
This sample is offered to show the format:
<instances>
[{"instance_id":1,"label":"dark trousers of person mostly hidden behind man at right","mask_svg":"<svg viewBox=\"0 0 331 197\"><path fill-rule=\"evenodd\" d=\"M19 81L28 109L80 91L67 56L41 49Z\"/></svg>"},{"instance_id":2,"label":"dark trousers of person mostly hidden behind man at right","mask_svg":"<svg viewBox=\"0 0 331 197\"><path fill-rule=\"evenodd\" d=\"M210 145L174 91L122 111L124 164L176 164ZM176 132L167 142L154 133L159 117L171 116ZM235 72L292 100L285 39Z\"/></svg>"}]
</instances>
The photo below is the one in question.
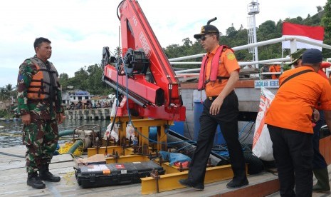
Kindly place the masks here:
<instances>
[{"instance_id":1,"label":"dark trousers of person mostly hidden behind man at right","mask_svg":"<svg viewBox=\"0 0 331 197\"><path fill-rule=\"evenodd\" d=\"M312 137L312 147L314 148L314 158L312 160L313 169L327 168L327 163L320 153L320 128L325 125L324 111L320 111L320 120L314 126L314 136Z\"/></svg>"}]
</instances>

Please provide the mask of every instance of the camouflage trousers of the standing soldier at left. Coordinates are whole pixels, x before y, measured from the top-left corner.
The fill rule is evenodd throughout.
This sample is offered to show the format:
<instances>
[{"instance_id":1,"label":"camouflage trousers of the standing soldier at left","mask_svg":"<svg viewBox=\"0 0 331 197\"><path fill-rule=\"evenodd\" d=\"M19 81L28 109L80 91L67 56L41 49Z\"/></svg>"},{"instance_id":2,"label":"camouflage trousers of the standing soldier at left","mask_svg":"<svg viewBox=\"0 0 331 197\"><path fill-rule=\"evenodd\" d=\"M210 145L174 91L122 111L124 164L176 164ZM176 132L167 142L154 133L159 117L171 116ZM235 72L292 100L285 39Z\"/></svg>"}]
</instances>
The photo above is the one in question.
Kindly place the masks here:
<instances>
[{"instance_id":1,"label":"camouflage trousers of the standing soldier at left","mask_svg":"<svg viewBox=\"0 0 331 197\"><path fill-rule=\"evenodd\" d=\"M23 144L26 145L26 172L38 171L51 163L58 144L58 123L54 120L31 119L23 126Z\"/></svg>"}]
</instances>

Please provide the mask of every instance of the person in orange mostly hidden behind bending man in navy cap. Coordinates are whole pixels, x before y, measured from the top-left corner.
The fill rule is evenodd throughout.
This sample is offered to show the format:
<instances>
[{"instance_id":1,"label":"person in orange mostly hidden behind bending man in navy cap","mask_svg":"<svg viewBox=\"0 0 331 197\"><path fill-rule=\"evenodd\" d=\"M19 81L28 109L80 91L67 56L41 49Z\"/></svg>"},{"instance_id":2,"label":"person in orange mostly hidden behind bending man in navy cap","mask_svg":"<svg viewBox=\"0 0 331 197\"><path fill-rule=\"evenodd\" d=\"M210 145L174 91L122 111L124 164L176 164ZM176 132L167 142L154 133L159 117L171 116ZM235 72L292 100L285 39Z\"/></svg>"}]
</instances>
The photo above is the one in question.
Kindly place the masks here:
<instances>
[{"instance_id":1,"label":"person in orange mostly hidden behind bending man in navy cap","mask_svg":"<svg viewBox=\"0 0 331 197\"><path fill-rule=\"evenodd\" d=\"M289 66L293 65L294 68L299 68L303 66L302 63L302 54L307 49L300 49L295 51L293 54L290 54L291 59L293 61L289 64ZM330 62L322 62L320 69L318 70L318 74L322 76L324 79L327 79L325 72L322 70L323 68L330 67ZM325 125L325 117L324 111L319 110L319 106L316 106L314 113L319 115L320 119L313 123L313 131L314 135L312 136L312 148L314 150L314 158L312 160L312 172L314 173L317 183L312 187L312 191L321 192L321 193L330 193L330 183L329 183L329 173L327 171L327 163L325 158L320 153L320 128Z\"/></svg>"}]
</instances>

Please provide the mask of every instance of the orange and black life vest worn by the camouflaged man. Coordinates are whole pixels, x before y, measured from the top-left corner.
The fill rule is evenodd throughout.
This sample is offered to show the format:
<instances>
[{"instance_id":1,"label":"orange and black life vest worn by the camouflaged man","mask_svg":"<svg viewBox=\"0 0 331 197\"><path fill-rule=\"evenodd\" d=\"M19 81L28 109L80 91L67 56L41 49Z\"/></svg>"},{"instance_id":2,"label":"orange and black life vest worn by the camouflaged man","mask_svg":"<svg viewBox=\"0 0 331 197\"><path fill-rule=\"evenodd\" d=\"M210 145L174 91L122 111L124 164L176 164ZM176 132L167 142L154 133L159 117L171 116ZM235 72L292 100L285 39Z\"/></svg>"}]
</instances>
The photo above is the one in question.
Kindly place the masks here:
<instances>
[{"instance_id":1,"label":"orange and black life vest worn by the camouflaged man","mask_svg":"<svg viewBox=\"0 0 331 197\"><path fill-rule=\"evenodd\" d=\"M41 59L31 58L37 68L37 73L32 76L30 86L28 86L29 99L56 98L56 91L60 86L58 84L58 71L51 62L46 66Z\"/></svg>"}]
</instances>

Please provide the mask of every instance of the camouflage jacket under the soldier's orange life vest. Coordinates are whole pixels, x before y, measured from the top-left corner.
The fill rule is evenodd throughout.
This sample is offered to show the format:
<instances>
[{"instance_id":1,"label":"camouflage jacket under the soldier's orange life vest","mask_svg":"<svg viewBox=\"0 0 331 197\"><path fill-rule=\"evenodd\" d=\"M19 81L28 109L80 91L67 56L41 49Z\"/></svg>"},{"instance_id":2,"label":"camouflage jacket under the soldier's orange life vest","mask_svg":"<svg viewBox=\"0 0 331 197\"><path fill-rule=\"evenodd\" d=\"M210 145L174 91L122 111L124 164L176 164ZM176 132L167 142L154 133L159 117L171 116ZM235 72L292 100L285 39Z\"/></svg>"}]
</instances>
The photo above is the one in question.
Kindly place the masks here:
<instances>
[{"instance_id":1,"label":"camouflage jacket under the soldier's orange life vest","mask_svg":"<svg viewBox=\"0 0 331 197\"><path fill-rule=\"evenodd\" d=\"M23 64L19 66L19 76L17 78L17 112L19 115L30 113L31 118L33 119L54 119L56 118L56 113L63 113L60 86L56 91L56 98L53 98L53 101L48 98L28 98L28 87L30 86L32 76L38 72L36 65L33 64L31 59L37 59L38 61L41 61L36 56L33 56L32 58L23 61ZM46 61L44 64L49 66L52 63L50 61ZM58 83L58 77L56 78L56 82ZM50 106L52 106L52 108Z\"/></svg>"}]
</instances>

